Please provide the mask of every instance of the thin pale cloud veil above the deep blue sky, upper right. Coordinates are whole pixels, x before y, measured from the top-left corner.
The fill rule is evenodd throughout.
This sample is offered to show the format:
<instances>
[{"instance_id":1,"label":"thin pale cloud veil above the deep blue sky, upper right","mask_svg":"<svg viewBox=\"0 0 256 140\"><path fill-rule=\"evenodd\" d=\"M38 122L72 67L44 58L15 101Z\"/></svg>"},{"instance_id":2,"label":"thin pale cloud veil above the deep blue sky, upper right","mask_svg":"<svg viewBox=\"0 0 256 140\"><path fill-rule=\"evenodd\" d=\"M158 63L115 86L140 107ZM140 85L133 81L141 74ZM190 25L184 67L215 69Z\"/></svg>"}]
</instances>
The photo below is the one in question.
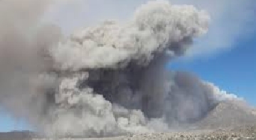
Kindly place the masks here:
<instances>
[{"instance_id":1,"label":"thin pale cloud veil above the deep blue sky, upper right","mask_svg":"<svg viewBox=\"0 0 256 140\"><path fill-rule=\"evenodd\" d=\"M188 51L189 57L206 56L231 49L238 40L255 30L255 1L173 0L176 4L193 4L208 11L211 17L208 35Z\"/></svg>"}]
</instances>

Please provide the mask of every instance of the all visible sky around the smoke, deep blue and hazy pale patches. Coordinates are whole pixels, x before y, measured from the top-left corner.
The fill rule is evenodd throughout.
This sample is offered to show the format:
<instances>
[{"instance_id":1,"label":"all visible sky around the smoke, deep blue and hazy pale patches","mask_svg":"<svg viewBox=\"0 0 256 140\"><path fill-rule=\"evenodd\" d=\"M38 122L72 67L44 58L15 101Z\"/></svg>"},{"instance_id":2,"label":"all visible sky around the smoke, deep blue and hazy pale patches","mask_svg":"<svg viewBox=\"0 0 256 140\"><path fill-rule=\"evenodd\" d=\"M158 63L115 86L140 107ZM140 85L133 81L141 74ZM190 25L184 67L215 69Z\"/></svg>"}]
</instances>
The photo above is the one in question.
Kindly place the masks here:
<instances>
[{"instance_id":1,"label":"all visible sky around the smoke, deep blue and hazy pale patches","mask_svg":"<svg viewBox=\"0 0 256 140\"><path fill-rule=\"evenodd\" d=\"M43 22L60 25L65 34L105 19L127 20L146 0L65 0L52 6ZM186 57L170 62L168 69L190 71L220 89L256 106L256 1L173 0L193 4L210 14L209 32L195 40ZM198 51L200 50L200 51ZM12 117L0 107L0 132L31 129L24 119Z\"/></svg>"}]
</instances>

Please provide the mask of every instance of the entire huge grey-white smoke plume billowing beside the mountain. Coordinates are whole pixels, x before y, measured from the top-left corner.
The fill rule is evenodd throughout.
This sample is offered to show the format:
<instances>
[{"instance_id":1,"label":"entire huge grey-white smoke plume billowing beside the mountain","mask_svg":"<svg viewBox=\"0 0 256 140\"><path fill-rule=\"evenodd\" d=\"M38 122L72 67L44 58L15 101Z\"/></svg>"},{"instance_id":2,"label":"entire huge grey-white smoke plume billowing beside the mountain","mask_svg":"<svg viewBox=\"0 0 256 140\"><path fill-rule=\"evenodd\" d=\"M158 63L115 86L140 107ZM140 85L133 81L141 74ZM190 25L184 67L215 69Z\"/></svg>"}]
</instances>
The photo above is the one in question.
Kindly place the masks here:
<instances>
[{"instance_id":1,"label":"entire huge grey-white smoke plume billowing beside the mountain","mask_svg":"<svg viewBox=\"0 0 256 140\"><path fill-rule=\"evenodd\" d=\"M39 131L169 131L236 98L164 68L207 32L206 12L151 1L127 23L106 21L63 38L58 27L39 22L50 2L0 1L0 103Z\"/></svg>"}]
</instances>

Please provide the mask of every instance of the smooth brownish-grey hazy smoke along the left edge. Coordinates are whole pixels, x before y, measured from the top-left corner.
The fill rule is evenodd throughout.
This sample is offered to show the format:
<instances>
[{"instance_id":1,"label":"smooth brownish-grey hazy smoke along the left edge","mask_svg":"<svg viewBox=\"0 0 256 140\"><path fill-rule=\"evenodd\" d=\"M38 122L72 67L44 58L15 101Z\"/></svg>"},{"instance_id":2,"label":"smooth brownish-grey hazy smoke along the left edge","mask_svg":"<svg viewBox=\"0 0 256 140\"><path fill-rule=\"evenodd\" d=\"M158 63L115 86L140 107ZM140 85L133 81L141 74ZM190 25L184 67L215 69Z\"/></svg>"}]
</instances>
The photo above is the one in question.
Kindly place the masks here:
<instances>
[{"instance_id":1,"label":"smooth brownish-grey hazy smoke along the left edge","mask_svg":"<svg viewBox=\"0 0 256 140\"><path fill-rule=\"evenodd\" d=\"M49 4L48 0L0 1L0 103L17 117L41 110L33 100L40 94L34 92L32 79L46 71L50 62L46 50L61 36L58 27L39 24Z\"/></svg>"}]
</instances>

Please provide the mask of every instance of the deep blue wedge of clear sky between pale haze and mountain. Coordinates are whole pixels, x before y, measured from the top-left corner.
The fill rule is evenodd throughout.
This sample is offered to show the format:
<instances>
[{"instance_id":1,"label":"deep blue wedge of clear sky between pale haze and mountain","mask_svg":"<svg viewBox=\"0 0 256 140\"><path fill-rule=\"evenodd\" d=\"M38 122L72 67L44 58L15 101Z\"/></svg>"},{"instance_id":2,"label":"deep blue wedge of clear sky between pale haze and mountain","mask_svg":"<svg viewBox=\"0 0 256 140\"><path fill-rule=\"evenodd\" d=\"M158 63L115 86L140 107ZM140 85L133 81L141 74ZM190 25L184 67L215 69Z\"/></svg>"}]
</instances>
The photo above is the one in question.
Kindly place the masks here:
<instances>
[{"instance_id":1,"label":"deep blue wedge of clear sky between pale haze and mountain","mask_svg":"<svg viewBox=\"0 0 256 140\"><path fill-rule=\"evenodd\" d=\"M256 106L256 40L255 34L238 38L235 46L211 57L170 62L169 69L193 72L220 89L233 93Z\"/></svg>"}]
</instances>

